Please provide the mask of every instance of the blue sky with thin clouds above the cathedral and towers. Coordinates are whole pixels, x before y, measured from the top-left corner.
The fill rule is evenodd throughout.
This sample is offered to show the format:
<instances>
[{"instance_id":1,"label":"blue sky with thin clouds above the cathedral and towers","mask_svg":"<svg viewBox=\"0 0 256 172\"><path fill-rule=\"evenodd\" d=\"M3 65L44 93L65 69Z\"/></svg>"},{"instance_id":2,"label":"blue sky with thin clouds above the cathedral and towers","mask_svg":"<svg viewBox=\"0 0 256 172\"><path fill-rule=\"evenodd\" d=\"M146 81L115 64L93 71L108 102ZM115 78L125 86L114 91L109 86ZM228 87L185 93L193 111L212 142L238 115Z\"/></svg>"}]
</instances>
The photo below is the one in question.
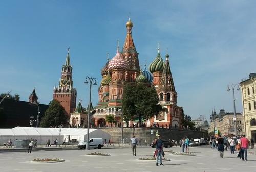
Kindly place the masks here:
<instances>
[{"instance_id":1,"label":"blue sky with thin clouds above the cathedral and towers","mask_svg":"<svg viewBox=\"0 0 256 172\"><path fill-rule=\"evenodd\" d=\"M157 54L170 67L178 105L192 118L212 108L233 111L227 84L256 72L255 1L2 1L0 6L0 91L28 101L36 88L40 103L52 99L70 47L77 102L89 102L86 76L101 80L106 53L123 45L129 12L143 66ZM92 102L98 101L92 87ZM237 111L242 111L236 91Z\"/></svg>"}]
</instances>

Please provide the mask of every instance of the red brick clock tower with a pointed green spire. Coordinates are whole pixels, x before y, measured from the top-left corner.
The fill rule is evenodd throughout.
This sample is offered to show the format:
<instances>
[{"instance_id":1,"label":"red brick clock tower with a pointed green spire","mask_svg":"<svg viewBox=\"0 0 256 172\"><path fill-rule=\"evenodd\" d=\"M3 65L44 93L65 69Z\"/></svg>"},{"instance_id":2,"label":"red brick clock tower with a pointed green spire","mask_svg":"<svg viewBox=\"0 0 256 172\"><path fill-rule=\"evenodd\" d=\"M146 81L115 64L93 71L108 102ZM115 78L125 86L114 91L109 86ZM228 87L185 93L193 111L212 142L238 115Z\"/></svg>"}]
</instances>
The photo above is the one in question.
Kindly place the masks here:
<instances>
[{"instance_id":1,"label":"red brick clock tower with a pointed green spire","mask_svg":"<svg viewBox=\"0 0 256 172\"><path fill-rule=\"evenodd\" d=\"M58 87L54 86L53 99L58 100L65 109L66 115L74 112L76 108L76 88L73 88L72 66L70 65L69 48L65 65L62 66Z\"/></svg>"}]
</instances>

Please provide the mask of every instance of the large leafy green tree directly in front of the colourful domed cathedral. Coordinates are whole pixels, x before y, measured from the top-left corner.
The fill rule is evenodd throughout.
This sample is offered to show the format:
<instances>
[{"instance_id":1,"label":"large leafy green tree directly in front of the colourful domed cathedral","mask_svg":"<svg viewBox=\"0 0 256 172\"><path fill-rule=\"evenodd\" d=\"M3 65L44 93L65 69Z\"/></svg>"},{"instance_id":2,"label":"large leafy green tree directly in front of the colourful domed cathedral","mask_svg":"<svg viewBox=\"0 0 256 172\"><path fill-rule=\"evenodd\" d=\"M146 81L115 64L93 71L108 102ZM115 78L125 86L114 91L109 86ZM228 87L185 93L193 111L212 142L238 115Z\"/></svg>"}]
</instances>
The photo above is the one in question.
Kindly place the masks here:
<instances>
[{"instance_id":1,"label":"large leafy green tree directly in front of the colourful domed cathedral","mask_svg":"<svg viewBox=\"0 0 256 172\"><path fill-rule=\"evenodd\" d=\"M126 122L139 117L141 127L142 119L150 119L161 111L162 106L158 104L158 95L153 86L144 83L126 85L123 92L123 116Z\"/></svg>"}]
</instances>

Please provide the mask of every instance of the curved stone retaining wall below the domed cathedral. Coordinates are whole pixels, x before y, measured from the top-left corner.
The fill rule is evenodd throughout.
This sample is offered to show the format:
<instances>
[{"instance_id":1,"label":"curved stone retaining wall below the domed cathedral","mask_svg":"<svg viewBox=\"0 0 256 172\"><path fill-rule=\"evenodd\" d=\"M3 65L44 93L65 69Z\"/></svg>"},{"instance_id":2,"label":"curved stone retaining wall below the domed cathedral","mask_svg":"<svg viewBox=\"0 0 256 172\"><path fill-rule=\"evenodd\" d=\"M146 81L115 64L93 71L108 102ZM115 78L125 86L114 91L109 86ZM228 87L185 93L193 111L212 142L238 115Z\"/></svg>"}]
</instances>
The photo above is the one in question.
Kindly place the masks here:
<instances>
[{"instance_id":1,"label":"curved stone retaining wall below the domed cathedral","mask_svg":"<svg viewBox=\"0 0 256 172\"><path fill-rule=\"evenodd\" d=\"M97 128L111 135L112 143L121 143L121 128ZM152 131L152 132L151 132ZM190 139L207 138L208 134L201 131L187 130L170 130L166 128L146 128L146 127L123 127L124 143L130 143L130 138L135 135L138 138L139 144L145 144L145 140L151 143L156 138L156 132L162 136L162 139L174 139L179 142L180 139L187 136ZM151 134L153 133L153 134ZM207 135L206 135L207 134Z\"/></svg>"}]
</instances>

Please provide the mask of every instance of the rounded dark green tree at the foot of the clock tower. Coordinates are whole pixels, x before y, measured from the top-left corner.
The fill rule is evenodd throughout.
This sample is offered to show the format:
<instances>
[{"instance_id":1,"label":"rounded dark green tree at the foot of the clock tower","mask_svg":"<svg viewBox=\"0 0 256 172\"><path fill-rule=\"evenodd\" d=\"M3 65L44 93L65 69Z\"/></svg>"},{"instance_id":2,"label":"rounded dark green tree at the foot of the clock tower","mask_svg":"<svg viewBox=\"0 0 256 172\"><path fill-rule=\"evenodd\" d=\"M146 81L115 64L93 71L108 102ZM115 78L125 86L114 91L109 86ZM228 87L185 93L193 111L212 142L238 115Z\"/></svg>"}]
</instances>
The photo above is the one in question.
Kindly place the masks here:
<instances>
[{"instance_id":1,"label":"rounded dark green tree at the foot of the clock tower","mask_svg":"<svg viewBox=\"0 0 256 172\"><path fill-rule=\"evenodd\" d=\"M52 100L49 103L49 108L42 117L40 127L54 127L62 124L67 124L68 116L65 114L65 109L60 105L59 101Z\"/></svg>"}]
</instances>

